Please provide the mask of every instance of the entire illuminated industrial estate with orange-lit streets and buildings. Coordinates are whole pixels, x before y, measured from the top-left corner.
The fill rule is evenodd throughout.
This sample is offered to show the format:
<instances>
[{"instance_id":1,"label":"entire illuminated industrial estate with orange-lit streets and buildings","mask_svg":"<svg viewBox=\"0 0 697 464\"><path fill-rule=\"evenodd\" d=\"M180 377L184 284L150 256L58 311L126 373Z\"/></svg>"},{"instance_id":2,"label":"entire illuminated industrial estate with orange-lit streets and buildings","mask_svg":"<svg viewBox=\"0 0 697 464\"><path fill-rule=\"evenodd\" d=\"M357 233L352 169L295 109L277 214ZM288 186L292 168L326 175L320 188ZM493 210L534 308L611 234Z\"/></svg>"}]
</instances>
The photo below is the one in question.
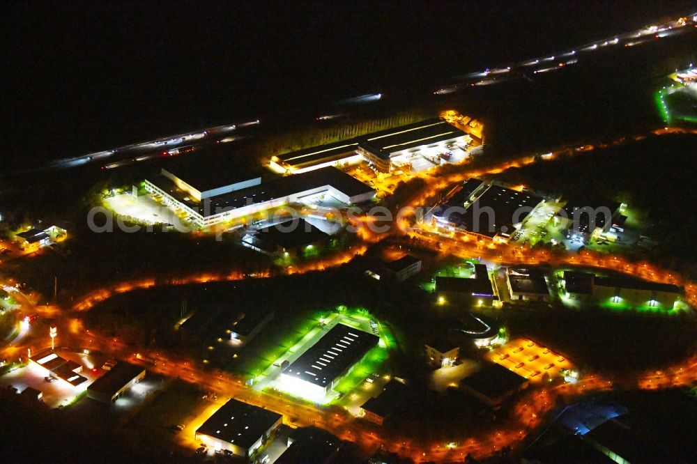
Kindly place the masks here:
<instances>
[{"instance_id":1,"label":"entire illuminated industrial estate with orange-lit streets and buildings","mask_svg":"<svg viewBox=\"0 0 697 464\"><path fill-rule=\"evenodd\" d=\"M631 194L519 182L694 134L695 68L671 79L672 130L506 159L442 102L254 162L259 121L89 155L85 224L0 211L2 400L174 461L689 462L625 403L694 403L694 266Z\"/></svg>"}]
</instances>

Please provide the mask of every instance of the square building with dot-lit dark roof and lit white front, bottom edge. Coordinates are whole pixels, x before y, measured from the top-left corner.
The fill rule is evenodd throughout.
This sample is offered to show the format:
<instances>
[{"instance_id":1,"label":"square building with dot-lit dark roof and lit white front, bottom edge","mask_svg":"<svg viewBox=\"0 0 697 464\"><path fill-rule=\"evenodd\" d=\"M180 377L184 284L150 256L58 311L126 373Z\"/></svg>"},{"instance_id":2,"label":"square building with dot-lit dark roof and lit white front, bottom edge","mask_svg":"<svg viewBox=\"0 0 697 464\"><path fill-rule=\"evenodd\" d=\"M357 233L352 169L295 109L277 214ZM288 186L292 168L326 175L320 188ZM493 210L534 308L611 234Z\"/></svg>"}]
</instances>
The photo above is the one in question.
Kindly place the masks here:
<instances>
[{"instance_id":1,"label":"square building with dot-lit dark roof and lit white front, bottom edge","mask_svg":"<svg viewBox=\"0 0 697 464\"><path fill-rule=\"evenodd\" d=\"M197 428L196 440L214 449L227 449L252 461L281 425L283 416L231 399Z\"/></svg>"}]
</instances>

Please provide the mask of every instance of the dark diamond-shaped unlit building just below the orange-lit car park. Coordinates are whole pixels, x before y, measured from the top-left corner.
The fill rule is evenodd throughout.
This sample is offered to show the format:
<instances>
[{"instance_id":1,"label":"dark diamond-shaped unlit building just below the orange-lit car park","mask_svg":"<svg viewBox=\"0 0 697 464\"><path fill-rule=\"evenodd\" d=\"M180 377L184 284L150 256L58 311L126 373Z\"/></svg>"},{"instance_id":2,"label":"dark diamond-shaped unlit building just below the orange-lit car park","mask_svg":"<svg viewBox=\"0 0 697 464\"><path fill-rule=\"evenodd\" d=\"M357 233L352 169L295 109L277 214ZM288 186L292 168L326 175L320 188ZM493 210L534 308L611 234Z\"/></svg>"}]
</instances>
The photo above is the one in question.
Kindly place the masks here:
<instances>
[{"instance_id":1,"label":"dark diamond-shaped unlit building just below the orange-lit car park","mask_svg":"<svg viewBox=\"0 0 697 464\"><path fill-rule=\"evenodd\" d=\"M465 392L493 408L529 385L528 379L496 363L460 381Z\"/></svg>"}]
</instances>

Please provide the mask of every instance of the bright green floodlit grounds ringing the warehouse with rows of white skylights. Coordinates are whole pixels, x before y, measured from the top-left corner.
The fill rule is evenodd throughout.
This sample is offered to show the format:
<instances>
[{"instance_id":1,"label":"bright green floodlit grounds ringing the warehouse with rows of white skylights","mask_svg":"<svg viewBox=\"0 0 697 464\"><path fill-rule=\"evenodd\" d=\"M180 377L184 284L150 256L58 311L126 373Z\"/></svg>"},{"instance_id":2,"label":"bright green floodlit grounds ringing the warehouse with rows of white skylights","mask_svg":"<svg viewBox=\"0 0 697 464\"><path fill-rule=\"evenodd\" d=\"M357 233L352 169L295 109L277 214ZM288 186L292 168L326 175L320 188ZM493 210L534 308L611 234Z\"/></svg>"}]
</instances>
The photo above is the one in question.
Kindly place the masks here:
<instances>
[{"instance_id":1,"label":"bright green floodlit grounds ringing the warehouse with rows of white skylights","mask_svg":"<svg viewBox=\"0 0 697 464\"><path fill-rule=\"evenodd\" d=\"M377 345L341 375L335 386L328 389L326 394L318 396L284 382L281 378L282 371L338 324L375 334L379 337ZM395 338L388 327L374 318L367 309L349 309L342 305L335 311L314 311L308 314L286 332L280 341L266 343L263 352L256 350L254 361L243 361L245 364L238 365L237 370L245 373L249 378L249 384L257 390L270 389L294 399L316 404L350 405L367 400L374 378L381 377L381 380L384 380L383 377L388 376L385 364L394 346ZM364 388L358 391L358 387L361 386Z\"/></svg>"}]
</instances>

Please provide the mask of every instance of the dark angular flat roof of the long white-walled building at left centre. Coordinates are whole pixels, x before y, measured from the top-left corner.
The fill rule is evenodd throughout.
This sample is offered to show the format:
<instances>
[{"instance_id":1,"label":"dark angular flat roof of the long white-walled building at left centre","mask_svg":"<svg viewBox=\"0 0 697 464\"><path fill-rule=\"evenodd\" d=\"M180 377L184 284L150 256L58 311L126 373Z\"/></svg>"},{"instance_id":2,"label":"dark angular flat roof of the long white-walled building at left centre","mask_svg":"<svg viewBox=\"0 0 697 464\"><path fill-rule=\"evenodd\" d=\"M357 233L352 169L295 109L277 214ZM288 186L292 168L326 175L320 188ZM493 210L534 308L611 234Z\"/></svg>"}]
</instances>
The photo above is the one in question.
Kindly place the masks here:
<instances>
[{"instance_id":1,"label":"dark angular flat roof of the long white-walled building at left centre","mask_svg":"<svg viewBox=\"0 0 697 464\"><path fill-rule=\"evenodd\" d=\"M192 199L188 192L178 188L171 179L162 176L162 174L148 178L148 181L189 208L199 209L199 213L204 217L215 215L217 208L241 208L325 185L330 185L349 197L374 192L372 187L365 185L360 180L349 176L344 171L329 166L315 169L314 171L293 174L292 176L276 178L267 183L262 182L261 185L254 185L254 187L247 187L228 194L213 196L213 198L206 200L209 201L210 207L207 211L203 211L202 203L204 202Z\"/></svg>"}]
</instances>

